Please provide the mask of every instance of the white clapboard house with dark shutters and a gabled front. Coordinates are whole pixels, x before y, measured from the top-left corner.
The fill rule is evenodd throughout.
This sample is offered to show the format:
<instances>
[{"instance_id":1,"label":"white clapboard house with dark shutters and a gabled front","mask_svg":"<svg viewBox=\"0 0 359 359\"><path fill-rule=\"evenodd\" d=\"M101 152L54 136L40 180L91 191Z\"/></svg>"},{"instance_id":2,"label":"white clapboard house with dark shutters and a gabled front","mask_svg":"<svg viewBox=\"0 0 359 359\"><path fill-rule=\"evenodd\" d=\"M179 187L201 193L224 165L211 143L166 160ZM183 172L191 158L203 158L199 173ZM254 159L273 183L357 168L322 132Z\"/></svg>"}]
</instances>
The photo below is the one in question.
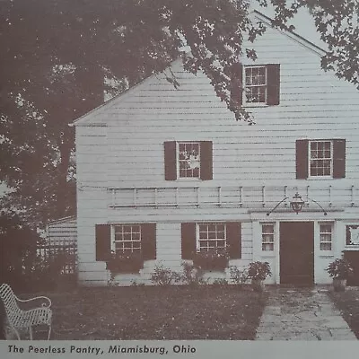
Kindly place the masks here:
<instances>
[{"instance_id":1,"label":"white clapboard house with dark shutters and a gabled front","mask_svg":"<svg viewBox=\"0 0 359 359\"><path fill-rule=\"evenodd\" d=\"M112 276L119 285L214 250L229 260L207 277L259 260L273 284L326 284L329 262L359 262L358 92L320 68L310 39L254 16L268 29L237 80L255 125L236 122L180 60L177 88L156 74L74 122L83 285L107 285L111 253L141 258Z\"/></svg>"}]
</instances>

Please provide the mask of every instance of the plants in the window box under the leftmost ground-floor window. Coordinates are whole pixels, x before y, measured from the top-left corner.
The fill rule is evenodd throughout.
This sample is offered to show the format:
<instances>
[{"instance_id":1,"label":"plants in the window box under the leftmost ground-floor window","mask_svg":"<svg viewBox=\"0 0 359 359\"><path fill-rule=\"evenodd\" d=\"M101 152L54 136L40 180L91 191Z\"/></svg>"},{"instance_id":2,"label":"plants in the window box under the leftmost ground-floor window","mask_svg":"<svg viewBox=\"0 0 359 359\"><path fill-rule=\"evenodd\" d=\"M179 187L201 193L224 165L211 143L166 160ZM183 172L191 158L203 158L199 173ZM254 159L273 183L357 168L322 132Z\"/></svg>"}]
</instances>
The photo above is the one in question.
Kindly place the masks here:
<instances>
[{"instance_id":1,"label":"plants in the window box under the leftmost ground-floor window","mask_svg":"<svg viewBox=\"0 0 359 359\"><path fill-rule=\"evenodd\" d=\"M144 267L144 258L141 252L117 252L111 253L111 257L107 261L107 269L112 274L116 273L138 273Z\"/></svg>"}]
</instances>

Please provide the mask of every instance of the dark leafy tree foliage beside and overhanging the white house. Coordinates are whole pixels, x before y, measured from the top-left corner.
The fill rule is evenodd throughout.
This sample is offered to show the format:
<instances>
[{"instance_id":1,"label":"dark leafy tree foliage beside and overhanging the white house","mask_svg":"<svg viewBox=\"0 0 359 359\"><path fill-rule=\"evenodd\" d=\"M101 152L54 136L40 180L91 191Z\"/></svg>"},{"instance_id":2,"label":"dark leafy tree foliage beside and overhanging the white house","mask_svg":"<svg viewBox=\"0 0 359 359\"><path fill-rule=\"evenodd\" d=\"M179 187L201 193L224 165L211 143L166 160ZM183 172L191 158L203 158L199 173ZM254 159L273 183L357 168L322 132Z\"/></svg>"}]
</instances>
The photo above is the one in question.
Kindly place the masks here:
<instances>
[{"instance_id":1,"label":"dark leafy tree foliage beside and overhanging the white house","mask_svg":"<svg viewBox=\"0 0 359 359\"><path fill-rule=\"evenodd\" d=\"M328 45L323 68L358 84L356 0L257 3L274 7L273 24L283 28L309 7ZM123 90L182 57L186 70L208 76L235 118L250 121L231 101L232 66L256 57L243 40L266 31L248 15L246 0L2 1L0 180L14 188L8 206L35 223L74 214L68 124L101 104L104 76ZM173 76L169 81L176 85Z\"/></svg>"}]
</instances>

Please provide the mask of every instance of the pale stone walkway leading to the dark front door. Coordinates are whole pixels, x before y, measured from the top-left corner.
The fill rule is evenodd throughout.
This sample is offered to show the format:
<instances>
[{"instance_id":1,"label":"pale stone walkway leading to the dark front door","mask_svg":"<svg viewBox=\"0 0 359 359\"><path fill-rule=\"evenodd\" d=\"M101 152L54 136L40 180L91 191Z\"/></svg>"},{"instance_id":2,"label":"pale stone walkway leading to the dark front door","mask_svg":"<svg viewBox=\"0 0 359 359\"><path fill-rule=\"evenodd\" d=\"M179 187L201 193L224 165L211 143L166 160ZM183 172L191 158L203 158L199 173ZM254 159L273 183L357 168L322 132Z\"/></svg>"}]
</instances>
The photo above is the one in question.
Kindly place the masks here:
<instances>
[{"instance_id":1,"label":"pale stone walkway leading to the dark front door","mask_svg":"<svg viewBox=\"0 0 359 359\"><path fill-rule=\"evenodd\" d=\"M356 340L326 287L267 290L256 340Z\"/></svg>"}]
</instances>

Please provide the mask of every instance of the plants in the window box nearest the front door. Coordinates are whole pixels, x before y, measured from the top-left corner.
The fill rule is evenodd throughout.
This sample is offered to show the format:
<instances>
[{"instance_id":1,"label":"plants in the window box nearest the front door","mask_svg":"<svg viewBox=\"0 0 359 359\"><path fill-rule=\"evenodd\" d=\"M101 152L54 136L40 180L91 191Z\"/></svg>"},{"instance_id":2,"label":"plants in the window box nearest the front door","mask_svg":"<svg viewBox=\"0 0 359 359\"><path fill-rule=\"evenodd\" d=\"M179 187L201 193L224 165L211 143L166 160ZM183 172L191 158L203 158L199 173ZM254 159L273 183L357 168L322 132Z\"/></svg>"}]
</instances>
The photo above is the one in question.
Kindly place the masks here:
<instances>
[{"instance_id":1,"label":"plants in the window box nearest the front door","mask_svg":"<svg viewBox=\"0 0 359 359\"><path fill-rule=\"evenodd\" d=\"M200 250L193 258L193 264L204 270L223 270L228 266L228 258L225 249Z\"/></svg>"}]
</instances>

